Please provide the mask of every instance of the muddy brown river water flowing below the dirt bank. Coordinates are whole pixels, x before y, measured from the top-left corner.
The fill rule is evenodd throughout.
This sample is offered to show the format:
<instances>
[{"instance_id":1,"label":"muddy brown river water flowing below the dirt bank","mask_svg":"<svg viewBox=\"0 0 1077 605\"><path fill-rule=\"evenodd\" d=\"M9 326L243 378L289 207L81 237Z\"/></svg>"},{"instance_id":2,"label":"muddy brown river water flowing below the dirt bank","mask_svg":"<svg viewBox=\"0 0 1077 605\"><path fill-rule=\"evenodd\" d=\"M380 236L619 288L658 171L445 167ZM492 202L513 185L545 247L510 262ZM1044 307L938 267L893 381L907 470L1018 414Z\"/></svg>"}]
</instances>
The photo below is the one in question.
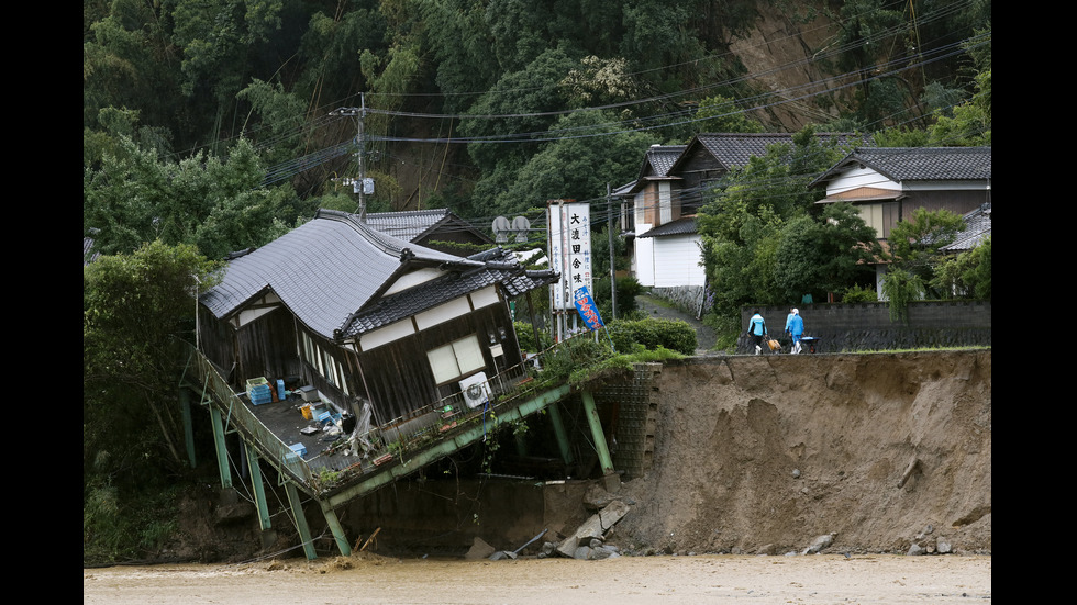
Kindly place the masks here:
<instances>
[{"instance_id":1,"label":"muddy brown river water flowing below the dirt bank","mask_svg":"<svg viewBox=\"0 0 1077 605\"><path fill-rule=\"evenodd\" d=\"M990 603L989 556L434 560L335 558L82 570L109 605Z\"/></svg>"}]
</instances>

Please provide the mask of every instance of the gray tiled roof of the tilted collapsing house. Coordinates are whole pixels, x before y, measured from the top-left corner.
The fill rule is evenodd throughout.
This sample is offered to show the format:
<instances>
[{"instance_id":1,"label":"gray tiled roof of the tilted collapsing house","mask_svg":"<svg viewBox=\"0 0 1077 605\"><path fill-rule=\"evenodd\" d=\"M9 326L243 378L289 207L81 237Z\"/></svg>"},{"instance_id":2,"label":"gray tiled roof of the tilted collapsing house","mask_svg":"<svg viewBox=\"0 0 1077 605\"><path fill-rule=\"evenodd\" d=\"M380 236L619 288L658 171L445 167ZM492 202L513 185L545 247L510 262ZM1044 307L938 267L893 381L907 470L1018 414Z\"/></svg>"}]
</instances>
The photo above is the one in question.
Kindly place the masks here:
<instances>
[{"instance_id":1,"label":"gray tiled roof of the tilted collapsing house","mask_svg":"<svg viewBox=\"0 0 1077 605\"><path fill-rule=\"evenodd\" d=\"M223 318L271 290L311 330L334 338L341 333L364 332L353 329L354 320L373 312L381 293L411 269L436 267L452 270L453 276L491 268L523 273L518 264L512 266L514 262L491 260L481 254L460 258L432 250L374 229L357 215L320 210L302 226L231 259L222 282L200 300L214 316ZM404 293L390 299L409 302L407 315L454 296L456 283L452 279L435 281L438 285L426 285L421 301L406 299ZM386 313L393 313L392 306Z\"/></svg>"}]
</instances>

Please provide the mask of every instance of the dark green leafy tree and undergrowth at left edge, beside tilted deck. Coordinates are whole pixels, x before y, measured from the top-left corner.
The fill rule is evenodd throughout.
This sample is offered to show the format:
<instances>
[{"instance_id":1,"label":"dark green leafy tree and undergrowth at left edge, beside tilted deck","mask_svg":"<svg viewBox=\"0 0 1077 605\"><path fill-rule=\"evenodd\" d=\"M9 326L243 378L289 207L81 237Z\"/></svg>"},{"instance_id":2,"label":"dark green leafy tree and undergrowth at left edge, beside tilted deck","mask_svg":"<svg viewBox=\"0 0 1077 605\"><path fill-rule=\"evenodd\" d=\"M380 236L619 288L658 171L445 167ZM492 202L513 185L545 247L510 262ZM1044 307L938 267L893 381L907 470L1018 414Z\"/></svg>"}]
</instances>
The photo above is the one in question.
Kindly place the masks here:
<instances>
[{"instance_id":1,"label":"dark green leafy tree and undergrowth at left edge, beside tilted deck","mask_svg":"<svg viewBox=\"0 0 1077 605\"><path fill-rule=\"evenodd\" d=\"M160 242L82 269L86 557L134 557L170 526L169 508L159 505L170 478L187 470L178 344L193 341L195 296L214 283L216 269L192 246ZM132 511L132 500L144 506Z\"/></svg>"}]
</instances>

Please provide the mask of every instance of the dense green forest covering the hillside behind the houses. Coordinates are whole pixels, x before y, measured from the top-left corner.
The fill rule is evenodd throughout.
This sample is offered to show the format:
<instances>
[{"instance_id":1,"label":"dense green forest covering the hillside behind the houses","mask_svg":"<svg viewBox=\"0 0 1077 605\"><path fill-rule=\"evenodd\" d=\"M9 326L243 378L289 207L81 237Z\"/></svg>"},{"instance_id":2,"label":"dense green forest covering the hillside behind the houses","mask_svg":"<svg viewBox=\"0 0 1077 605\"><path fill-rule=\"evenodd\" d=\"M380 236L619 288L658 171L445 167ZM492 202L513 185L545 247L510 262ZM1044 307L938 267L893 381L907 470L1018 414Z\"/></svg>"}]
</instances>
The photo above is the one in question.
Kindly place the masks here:
<instances>
[{"instance_id":1,"label":"dense green forest covering the hillside behind the houses","mask_svg":"<svg viewBox=\"0 0 1077 605\"><path fill-rule=\"evenodd\" d=\"M747 74L731 48L764 10L833 32L812 69L856 86L773 91ZM438 204L484 227L547 199L601 198L655 143L786 130L788 99L793 123L828 115L829 130L989 143L990 11L985 0L91 0L84 228L103 251L132 251L156 229L220 258L319 206L354 210L340 179L356 176L357 123L331 115L341 107L366 110L371 209Z\"/></svg>"}]
</instances>

